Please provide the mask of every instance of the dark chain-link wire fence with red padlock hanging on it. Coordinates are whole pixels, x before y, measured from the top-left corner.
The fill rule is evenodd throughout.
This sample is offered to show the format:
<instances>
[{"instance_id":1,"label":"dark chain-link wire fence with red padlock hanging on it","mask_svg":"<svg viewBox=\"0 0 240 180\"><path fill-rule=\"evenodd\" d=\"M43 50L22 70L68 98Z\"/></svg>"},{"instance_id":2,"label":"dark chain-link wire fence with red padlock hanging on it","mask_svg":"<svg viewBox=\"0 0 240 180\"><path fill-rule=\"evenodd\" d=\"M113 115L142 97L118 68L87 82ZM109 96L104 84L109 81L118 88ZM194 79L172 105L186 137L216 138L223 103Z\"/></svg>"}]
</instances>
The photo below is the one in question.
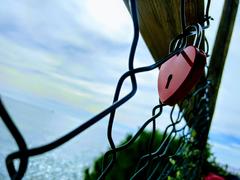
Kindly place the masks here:
<instances>
[{"instance_id":1,"label":"dark chain-link wire fence with red padlock hanging on it","mask_svg":"<svg viewBox=\"0 0 240 180\"><path fill-rule=\"evenodd\" d=\"M184 48L189 44L200 46L202 40L202 32L210 25L210 17L208 15L210 0L206 6L206 15L202 22L194 25L186 26L184 0L180 1L182 32L169 45L169 55L159 59L156 63L134 68L134 55L137 48L139 38L139 25L137 17L137 5L135 0L130 0L130 9L134 27L134 37L128 60L128 71L124 73L116 86L113 103L111 106L100 112L93 118L89 119L73 131L50 142L49 144L28 148L25 139L18 130L9 113L6 111L4 104L0 103L0 115L6 127L12 134L18 151L9 154L6 157L6 167L11 179L22 179L28 167L29 158L51 151L62 144L68 142L72 138L81 134L83 131L99 122L102 118L109 116L107 137L110 145L110 150L104 155L102 167L99 170L96 178L111 179L109 173L111 169L118 163L119 153L129 149L139 137L144 133L144 130L151 125L151 135L145 144L146 149L142 151L141 156L137 159L134 169L130 169L127 179L200 179L202 175L202 164L205 156L206 134L208 134L208 126L210 123L209 117L209 91L211 82L207 80L205 74L198 85L188 93L186 97L181 97L181 101L174 105L169 114L169 125L165 128L162 137L156 138L156 123L162 115L163 109L167 104L162 103L161 99L152 109L152 117L150 117L139 130L129 138L124 144L116 146L113 140L113 124L117 109L125 102L131 99L137 92L137 75L160 68L170 58L181 54ZM195 37L195 41L188 40L189 37ZM208 54L208 45L206 43L206 52ZM207 67L205 71L207 72ZM125 80L131 81L132 89L127 95L120 98L122 86ZM176 104L176 103L174 103ZM160 122L161 123L161 122ZM19 160L19 166L16 168L14 161ZM191 162L195 165L192 167ZM196 167L197 165L197 167Z\"/></svg>"}]
</instances>

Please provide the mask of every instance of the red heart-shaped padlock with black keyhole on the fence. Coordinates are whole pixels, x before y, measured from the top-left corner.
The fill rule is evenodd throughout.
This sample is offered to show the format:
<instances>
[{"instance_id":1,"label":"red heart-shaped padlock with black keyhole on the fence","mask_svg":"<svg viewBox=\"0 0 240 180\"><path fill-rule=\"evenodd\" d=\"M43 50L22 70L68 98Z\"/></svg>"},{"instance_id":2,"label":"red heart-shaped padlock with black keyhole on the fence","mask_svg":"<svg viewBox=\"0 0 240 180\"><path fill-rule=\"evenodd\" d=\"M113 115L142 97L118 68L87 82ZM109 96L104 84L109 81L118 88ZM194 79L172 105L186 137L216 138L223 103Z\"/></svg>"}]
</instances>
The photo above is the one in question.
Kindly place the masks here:
<instances>
[{"instance_id":1,"label":"red heart-shaped padlock with black keyhole on the fence","mask_svg":"<svg viewBox=\"0 0 240 180\"><path fill-rule=\"evenodd\" d=\"M195 45L184 48L161 65L158 77L158 93L163 104L174 105L183 99L204 72L206 55L199 50L201 38ZM197 45L196 45L197 42Z\"/></svg>"}]
</instances>

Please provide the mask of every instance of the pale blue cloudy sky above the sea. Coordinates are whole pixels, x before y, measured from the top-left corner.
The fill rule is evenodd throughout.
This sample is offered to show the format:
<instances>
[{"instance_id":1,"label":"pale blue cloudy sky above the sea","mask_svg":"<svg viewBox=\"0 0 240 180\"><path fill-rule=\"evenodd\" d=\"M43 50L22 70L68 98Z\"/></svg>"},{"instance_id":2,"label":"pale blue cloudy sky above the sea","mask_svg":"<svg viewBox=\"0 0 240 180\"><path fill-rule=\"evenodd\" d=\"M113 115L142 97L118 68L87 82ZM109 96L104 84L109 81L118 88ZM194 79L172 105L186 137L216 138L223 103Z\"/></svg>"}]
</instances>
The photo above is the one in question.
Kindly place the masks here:
<instances>
[{"instance_id":1,"label":"pale blue cloudy sky above the sea","mask_svg":"<svg viewBox=\"0 0 240 180\"><path fill-rule=\"evenodd\" d=\"M0 0L0 94L79 115L80 122L108 107L128 68L133 29L121 0ZM223 0L212 0L206 32L212 47ZM219 90L210 140L221 163L240 168L240 14ZM135 67L153 63L142 38ZM158 71L138 76L138 93L117 119L138 128L158 103ZM124 84L123 96L129 92ZM129 117L129 114L131 117ZM231 155L231 157L229 157Z\"/></svg>"}]
</instances>

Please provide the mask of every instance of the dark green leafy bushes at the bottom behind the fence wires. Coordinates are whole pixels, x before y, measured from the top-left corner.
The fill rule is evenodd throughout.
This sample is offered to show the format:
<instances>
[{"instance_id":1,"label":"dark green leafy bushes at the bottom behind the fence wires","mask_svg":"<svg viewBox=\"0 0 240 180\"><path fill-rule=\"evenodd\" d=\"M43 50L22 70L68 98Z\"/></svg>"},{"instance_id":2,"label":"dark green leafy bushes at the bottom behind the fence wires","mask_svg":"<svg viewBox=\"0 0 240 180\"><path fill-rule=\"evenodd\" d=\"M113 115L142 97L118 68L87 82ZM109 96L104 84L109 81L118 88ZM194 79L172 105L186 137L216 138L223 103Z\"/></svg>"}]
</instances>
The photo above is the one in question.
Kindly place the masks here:
<instances>
[{"instance_id":1,"label":"dark green leafy bushes at the bottom behind the fence wires","mask_svg":"<svg viewBox=\"0 0 240 180\"><path fill-rule=\"evenodd\" d=\"M117 161L114 163L112 169L105 177L106 180L123 180L130 179L136 170L136 165L139 158L149 153L149 142L151 139L150 132L143 132L140 137L126 150L117 153ZM127 138L120 144L123 145L132 138L128 135ZM156 151L161 144L163 135L156 132L152 151ZM182 145L182 146L180 146ZM204 151L196 149L193 143L186 143L180 138L174 138L170 146L166 148L163 145L161 158L151 161L151 165L143 170L137 179L147 179L154 172L154 168L158 165L157 170L153 173L151 179L167 179L167 180L182 180L182 179L201 179L200 177L207 175L209 172L219 174L221 176L228 176L226 167L219 166L213 154L210 151L210 146L207 145ZM107 159L109 162L111 156ZM103 155L95 160L92 170L86 168L84 171L85 180L96 180L102 172ZM203 168L199 165L203 164ZM200 170L200 171L199 171ZM200 173L200 174L197 174ZM192 178L190 178L192 177Z\"/></svg>"}]
</instances>

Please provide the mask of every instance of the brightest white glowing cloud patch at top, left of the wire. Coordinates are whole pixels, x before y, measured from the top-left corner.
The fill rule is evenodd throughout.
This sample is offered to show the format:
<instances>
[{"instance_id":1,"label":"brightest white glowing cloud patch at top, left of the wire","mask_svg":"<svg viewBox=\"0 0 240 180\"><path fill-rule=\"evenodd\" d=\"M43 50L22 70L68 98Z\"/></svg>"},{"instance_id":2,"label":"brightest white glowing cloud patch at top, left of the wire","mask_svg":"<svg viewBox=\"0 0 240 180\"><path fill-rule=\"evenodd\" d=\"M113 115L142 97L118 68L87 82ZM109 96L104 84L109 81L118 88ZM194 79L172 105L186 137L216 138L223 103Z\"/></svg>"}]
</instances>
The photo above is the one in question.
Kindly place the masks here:
<instances>
[{"instance_id":1,"label":"brightest white glowing cloud patch at top, left of the wire","mask_svg":"<svg viewBox=\"0 0 240 180\"><path fill-rule=\"evenodd\" d=\"M129 42L132 37L131 18L123 1L88 0L82 3L86 12L82 22L96 33L117 42Z\"/></svg>"}]
</instances>

